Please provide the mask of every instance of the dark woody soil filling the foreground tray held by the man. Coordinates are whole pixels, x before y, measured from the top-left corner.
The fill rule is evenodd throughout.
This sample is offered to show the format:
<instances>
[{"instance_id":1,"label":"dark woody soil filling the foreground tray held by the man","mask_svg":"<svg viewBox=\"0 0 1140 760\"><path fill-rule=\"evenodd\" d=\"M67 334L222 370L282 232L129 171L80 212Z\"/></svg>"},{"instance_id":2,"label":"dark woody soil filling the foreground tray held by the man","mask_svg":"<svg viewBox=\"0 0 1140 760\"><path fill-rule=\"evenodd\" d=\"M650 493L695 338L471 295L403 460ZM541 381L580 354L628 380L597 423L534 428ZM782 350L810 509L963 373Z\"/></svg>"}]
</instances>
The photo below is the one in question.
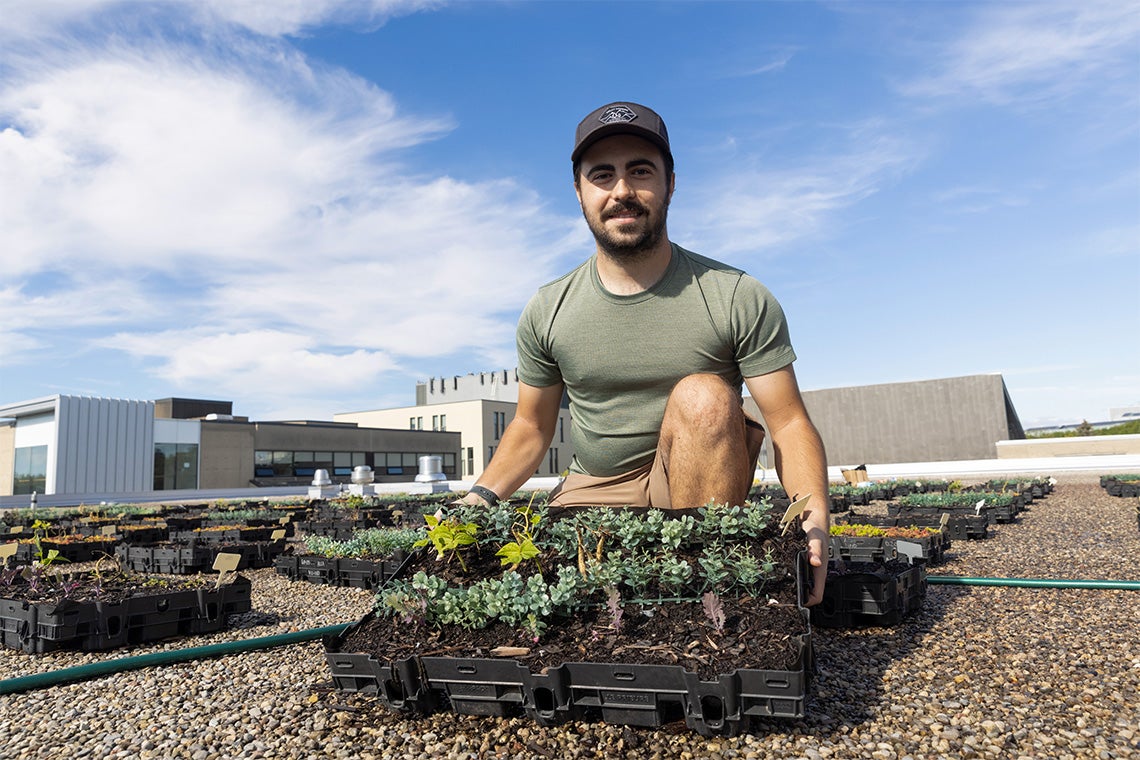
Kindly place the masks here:
<instances>
[{"instance_id":1,"label":"dark woody soil filling the foreground tray held by the man","mask_svg":"<svg viewBox=\"0 0 1140 760\"><path fill-rule=\"evenodd\" d=\"M532 672L565 662L663 664L681 665L706 680L740 668L799 669L803 667L799 637L808 630L797 606L797 563L806 549L799 521L795 521L787 534L779 534L773 526L771 532L748 544L754 545L758 556L771 551L777 567L776 579L765 585L763 598L722 597L724 623L719 630L700 600L625 603L618 626L606 605L598 602L573 615L553 619L538 641L504 623L478 630L459 626L434 628L423 621L377 614L350 630L339 648L373 654L389 662L410 656L494 657L502 656L496 653L499 647L519 647L507 656ZM695 555L685 558L695 561ZM555 559L547 555L539 563L549 573ZM438 561L434 551L426 551L414 557L401 575L410 578L423 570L461 586L499 575L504 570L494 548L469 551L464 562L466 570L453 557ZM519 572L523 570L520 567ZM643 597L650 599L656 594L656 589L650 589ZM526 652L519 653L522 649Z\"/></svg>"}]
</instances>

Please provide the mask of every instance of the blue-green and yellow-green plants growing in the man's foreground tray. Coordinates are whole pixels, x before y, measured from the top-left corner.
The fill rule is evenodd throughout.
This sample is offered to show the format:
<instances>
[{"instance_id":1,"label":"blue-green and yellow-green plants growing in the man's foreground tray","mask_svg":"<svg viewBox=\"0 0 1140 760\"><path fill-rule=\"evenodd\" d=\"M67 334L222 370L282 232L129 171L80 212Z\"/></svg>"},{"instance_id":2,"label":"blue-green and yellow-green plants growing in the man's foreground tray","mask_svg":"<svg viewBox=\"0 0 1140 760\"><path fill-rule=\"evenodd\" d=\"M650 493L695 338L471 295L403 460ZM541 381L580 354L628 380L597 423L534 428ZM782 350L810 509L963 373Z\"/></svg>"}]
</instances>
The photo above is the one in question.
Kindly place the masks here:
<instances>
[{"instance_id":1,"label":"blue-green and yellow-green plants growing in the man's foreground tray","mask_svg":"<svg viewBox=\"0 0 1140 760\"><path fill-rule=\"evenodd\" d=\"M507 570L450 588L418 572L381 591L377 606L384 614L466 628L498 621L537 638L552 615L588 604L614 606L611 615L620 624L622 598L698 600L705 591L757 596L779 570L771 550L752 540L772 525L768 501L710 504L695 515L600 507L552 523L544 521L545 509L531 505L449 510L447 517L443 512L425 515L427 537L416 544L433 546L440 558L458 556L463 564L462 551L475 544L477 532L479 544L505 533L511 540L496 554ZM538 572L519 571L547 551L561 559L553 569L544 573L536 562L531 567Z\"/></svg>"}]
</instances>

